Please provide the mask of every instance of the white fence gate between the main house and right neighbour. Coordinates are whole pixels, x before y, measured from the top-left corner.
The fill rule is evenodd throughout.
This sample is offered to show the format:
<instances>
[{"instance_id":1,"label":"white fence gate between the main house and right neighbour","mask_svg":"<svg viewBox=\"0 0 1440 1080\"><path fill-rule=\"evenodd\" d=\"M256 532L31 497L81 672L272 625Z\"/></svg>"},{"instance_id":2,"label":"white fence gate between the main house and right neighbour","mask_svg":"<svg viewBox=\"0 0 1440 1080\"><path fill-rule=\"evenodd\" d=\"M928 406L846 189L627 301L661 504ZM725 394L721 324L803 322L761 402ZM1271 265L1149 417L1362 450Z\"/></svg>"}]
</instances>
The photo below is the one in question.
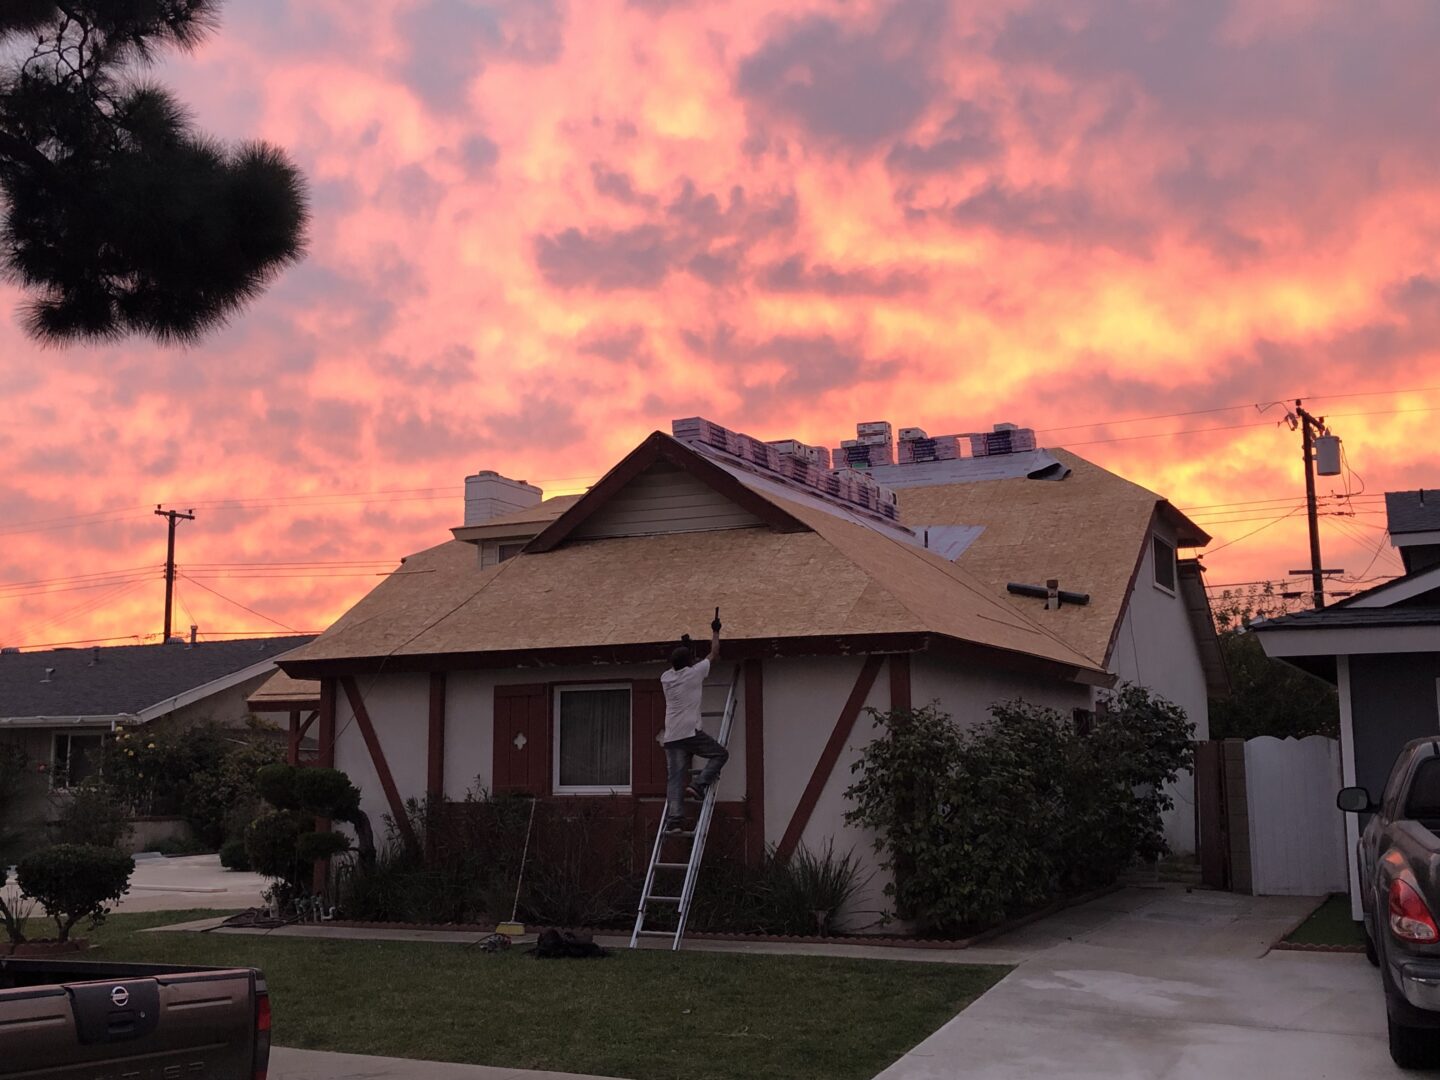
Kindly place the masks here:
<instances>
[{"instance_id":1,"label":"white fence gate between the main house and right neighbour","mask_svg":"<svg viewBox=\"0 0 1440 1080\"><path fill-rule=\"evenodd\" d=\"M1346 890L1345 819L1335 808L1341 749L1333 739L1246 742L1250 868L1256 896Z\"/></svg>"}]
</instances>

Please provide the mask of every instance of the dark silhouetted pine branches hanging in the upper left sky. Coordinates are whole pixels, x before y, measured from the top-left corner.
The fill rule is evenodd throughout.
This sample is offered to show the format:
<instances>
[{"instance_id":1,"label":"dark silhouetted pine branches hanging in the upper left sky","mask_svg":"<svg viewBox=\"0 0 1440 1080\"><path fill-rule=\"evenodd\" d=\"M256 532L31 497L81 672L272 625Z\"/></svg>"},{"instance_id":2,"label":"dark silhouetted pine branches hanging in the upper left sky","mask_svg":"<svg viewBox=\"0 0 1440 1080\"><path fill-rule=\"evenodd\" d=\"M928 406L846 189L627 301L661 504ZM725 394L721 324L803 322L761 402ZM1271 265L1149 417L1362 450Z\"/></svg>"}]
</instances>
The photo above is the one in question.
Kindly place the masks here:
<instances>
[{"instance_id":1,"label":"dark silhouetted pine branches hanging in the upper left sky","mask_svg":"<svg viewBox=\"0 0 1440 1080\"><path fill-rule=\"evenodd\" d=\"M225 147L141 68L192 50L219 0L0 3L0 271L46 343L193 343L304 253L300 171Z\"/></svg>"}]
</instances>

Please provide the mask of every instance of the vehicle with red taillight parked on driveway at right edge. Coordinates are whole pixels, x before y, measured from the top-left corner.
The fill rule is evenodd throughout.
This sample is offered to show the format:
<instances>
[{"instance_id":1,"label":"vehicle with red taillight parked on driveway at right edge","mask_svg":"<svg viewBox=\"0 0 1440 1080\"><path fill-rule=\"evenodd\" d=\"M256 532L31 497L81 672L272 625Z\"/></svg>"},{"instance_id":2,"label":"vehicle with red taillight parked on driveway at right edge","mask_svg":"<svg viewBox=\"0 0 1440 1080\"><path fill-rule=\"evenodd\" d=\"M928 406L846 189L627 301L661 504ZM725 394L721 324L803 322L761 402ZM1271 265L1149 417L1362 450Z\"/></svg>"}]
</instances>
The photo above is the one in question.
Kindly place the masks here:
<instances>
[{"instance_id":1,"label":"vehicle with red taillight parked on driveway at right edge","mask_svg":"<svg viewBox=\"0 0 1440 1080\"><path fill-rule=\"evenodd\" d=\"M1440 1066L1440 739L1405 744L1378 804L1364 788L1345 788L1335 802L1369 815L1355 865L1390 1056L1401 1068Z\"/></svg>"}]
</instances>

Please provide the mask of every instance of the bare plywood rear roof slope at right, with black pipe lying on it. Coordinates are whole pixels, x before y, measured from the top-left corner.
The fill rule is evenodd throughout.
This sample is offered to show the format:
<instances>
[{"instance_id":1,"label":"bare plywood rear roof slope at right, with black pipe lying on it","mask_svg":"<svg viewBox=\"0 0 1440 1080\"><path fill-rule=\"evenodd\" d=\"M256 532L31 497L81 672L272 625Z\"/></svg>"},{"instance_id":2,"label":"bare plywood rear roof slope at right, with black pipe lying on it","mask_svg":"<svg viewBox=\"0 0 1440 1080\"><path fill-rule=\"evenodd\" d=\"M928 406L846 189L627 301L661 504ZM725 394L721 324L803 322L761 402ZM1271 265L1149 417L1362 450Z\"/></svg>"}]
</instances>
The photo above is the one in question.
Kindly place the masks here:
<instances>
[{"instance_id":1,"label":"bare plywood rear roof slope at right, with black pipe lying on it","mask_svg":"<svg viewBox=\"0 0 1440 1080\"><path fill-rule=\"evenodd\" d=\"M1061 589L1089 593L1087 605L1048 612L1030 598L1008 602L1107 665L1155 517L1172 524L1182 547L1210 537L1153 491L1068 451L1050 455L1068 477L903 487L900 518L912 528L982 526L956 563L998 593L1009 582L1044 585L1051 577Z\"/></svg>"}]
</instances>

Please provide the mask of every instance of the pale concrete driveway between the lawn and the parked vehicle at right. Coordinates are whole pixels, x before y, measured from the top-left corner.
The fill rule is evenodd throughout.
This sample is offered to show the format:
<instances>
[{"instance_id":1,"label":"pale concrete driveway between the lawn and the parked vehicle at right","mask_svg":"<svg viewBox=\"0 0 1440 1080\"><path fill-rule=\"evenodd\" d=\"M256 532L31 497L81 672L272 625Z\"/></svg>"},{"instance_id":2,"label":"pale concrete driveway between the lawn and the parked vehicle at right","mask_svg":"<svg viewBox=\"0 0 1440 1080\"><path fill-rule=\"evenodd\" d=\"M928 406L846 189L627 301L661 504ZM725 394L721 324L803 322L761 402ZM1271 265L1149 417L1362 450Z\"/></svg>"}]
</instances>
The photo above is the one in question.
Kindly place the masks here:
<instances>
[{"instance_id":1,"label":"pale concrete driveway between the lawn and the parked vehicle at right","mask_svg":"<svg viewBox=\"0 0 1440 1080\"><path fill-rule=\"evenodd\" d=\"M969 959L1020 966L877 1080L1369 1080L1390 1061L1364 956L1273 952L1313 901L1130 888Z\"/></svg>"}]
</instances>

